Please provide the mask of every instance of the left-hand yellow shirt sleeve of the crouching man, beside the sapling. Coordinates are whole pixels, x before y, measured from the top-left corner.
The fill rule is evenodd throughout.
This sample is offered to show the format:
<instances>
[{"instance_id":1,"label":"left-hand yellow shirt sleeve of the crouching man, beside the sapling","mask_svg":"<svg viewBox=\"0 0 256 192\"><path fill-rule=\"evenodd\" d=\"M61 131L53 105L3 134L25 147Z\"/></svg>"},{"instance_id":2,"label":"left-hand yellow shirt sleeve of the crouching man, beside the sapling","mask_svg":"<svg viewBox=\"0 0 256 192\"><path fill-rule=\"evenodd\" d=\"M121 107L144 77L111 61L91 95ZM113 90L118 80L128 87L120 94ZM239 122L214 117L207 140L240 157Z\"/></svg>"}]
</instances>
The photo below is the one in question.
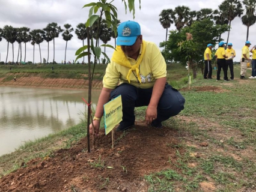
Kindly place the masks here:
<instances>
[{"instance_id":1,"label":"left-hand yellow shirt sleeve of the crouching man, beside the sapling","mask_svg":"<svg viewBox=\"0 0 256 192\"><path fill-rule=\"evenodd\" d=\"M108 89L115 89L119 83L120 73L115 67L115 62L111 61L106 67L106 73L103 77L103 87Z\"/></svg>"}]
</instances>

